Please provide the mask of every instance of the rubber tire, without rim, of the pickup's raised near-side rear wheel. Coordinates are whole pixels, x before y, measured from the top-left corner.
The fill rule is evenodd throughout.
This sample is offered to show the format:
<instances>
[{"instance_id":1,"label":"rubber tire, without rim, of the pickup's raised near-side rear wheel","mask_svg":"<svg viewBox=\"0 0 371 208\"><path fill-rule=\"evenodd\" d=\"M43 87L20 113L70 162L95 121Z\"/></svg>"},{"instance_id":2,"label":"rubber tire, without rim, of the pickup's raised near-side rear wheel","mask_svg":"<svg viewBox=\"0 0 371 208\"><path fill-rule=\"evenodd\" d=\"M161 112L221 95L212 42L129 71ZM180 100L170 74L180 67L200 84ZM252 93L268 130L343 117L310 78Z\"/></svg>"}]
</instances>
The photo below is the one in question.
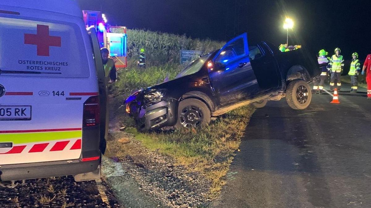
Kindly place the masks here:
<instances>
[{"instance_id":1,"label":"rubber tire, without rim, of the pickup's raised near-side rear wheel","mask_svg":"<svg viewBox=\"0 0 371 208\"><path fill-rule=\"evenodd\" d=\"M298 98L296 97L296 93L299 87L305 87L308 91L308 98L304 103L299 103ZM286 102L287 104L295 110L303 110L308 107L312 100L312 90L309 87L309 84L306 83L304 80L294 80L291 81L286 88Z\"/></svg>"}]
</instances>

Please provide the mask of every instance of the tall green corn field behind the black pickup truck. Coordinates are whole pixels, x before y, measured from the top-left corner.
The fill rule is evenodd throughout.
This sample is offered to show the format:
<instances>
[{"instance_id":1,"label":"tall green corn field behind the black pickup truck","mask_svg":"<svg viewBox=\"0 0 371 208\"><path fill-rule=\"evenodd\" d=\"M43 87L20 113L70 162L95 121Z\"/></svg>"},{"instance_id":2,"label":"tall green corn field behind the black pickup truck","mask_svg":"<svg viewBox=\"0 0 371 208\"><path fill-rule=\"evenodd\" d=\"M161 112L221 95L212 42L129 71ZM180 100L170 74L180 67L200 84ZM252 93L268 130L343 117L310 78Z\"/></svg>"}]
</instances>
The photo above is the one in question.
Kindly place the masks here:
<instances>
[{"instance_id":1,"label":"tall green corn field behind the black pickup truck","mask_svg":"<svg viewBox=\"0 0 371 208\"><path fill-rule=\"evenodd\" d=\"M203 53L221 48L224 43L209 39L200 40L185 35L175 35L149 30L127 30L127 50L129 66L139 56L139 49L145 48L146 65L177 64L180 62L180 50L198 50Z\"/></svg>"}]
</instances>

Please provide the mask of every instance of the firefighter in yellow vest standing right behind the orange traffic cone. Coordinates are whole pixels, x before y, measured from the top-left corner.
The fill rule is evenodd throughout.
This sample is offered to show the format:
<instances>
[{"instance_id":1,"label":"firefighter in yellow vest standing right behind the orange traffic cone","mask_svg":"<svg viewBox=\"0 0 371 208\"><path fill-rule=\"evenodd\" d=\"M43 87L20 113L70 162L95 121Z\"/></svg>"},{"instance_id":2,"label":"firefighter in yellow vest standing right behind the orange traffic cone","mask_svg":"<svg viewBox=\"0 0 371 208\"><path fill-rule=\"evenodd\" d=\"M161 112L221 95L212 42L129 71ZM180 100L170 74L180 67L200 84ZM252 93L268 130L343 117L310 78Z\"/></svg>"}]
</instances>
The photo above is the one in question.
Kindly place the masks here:
<instances>
[{"instance_id":1,"label":"firefighter in yellow vest standing right behind the orange traffic cone","mask_svg":"<svg viewBox=\"0 0 371 208\"><path fill-rule=\"evenodd\" d=\"M335 48L335 54L332 55L330 59L330 67L331 67L331 80L330 80L330 90L334 91L335 88L335 81L337 90L340 91L341 88L341 81L340 75L344 68L344 59L343 56L340 55L341 50L340 48Z\"/></svg>"}]
</instances>

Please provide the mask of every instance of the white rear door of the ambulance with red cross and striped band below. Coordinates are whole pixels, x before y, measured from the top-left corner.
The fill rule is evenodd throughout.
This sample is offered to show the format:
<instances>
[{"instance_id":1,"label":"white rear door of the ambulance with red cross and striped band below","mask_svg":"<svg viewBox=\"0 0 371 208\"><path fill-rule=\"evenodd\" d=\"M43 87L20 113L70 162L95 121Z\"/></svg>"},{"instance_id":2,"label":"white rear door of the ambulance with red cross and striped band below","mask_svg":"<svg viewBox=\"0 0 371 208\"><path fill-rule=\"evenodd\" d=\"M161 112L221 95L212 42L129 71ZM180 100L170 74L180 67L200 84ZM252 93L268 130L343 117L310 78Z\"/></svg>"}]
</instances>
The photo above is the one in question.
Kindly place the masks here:
<instances>
[{"instance_id":1,"label":"white rear door of the ambulance with red cross and striped band below","mask_svg":"<svg viewBox=\"0 0 371 208\"><path fill-rule=\"evenodd\" d=\"M93 69L82 19L0 5L0 165L81 157L100 120Z\"/></svg>"}]
</instances>

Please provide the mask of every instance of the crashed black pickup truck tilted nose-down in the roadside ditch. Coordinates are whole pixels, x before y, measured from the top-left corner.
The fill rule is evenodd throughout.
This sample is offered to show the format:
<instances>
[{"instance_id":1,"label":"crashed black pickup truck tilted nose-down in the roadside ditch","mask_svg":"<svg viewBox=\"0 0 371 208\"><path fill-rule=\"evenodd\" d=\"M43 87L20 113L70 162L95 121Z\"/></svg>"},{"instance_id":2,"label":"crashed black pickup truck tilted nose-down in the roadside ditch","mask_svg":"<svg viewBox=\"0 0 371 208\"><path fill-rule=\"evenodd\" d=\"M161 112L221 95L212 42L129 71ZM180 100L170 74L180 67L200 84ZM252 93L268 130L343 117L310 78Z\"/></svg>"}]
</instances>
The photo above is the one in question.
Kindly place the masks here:
<instances>
[{"instance_id":1,"label":"crashed black pickup truck tilted nose-down in the roadside ditch","mask_svg":"<svg viewBox=\"0 0 371 208\"><path fill-rule=\"evenodd\" d=\"M311 103L309 83L320 74L305 48L281 52L266 42L247 44L244 33L194 60L178 76L137 91L125 101L139 131L196 128L242 105L264 107L286 97L297 110Z\"/></svg>"}]
</instances>

